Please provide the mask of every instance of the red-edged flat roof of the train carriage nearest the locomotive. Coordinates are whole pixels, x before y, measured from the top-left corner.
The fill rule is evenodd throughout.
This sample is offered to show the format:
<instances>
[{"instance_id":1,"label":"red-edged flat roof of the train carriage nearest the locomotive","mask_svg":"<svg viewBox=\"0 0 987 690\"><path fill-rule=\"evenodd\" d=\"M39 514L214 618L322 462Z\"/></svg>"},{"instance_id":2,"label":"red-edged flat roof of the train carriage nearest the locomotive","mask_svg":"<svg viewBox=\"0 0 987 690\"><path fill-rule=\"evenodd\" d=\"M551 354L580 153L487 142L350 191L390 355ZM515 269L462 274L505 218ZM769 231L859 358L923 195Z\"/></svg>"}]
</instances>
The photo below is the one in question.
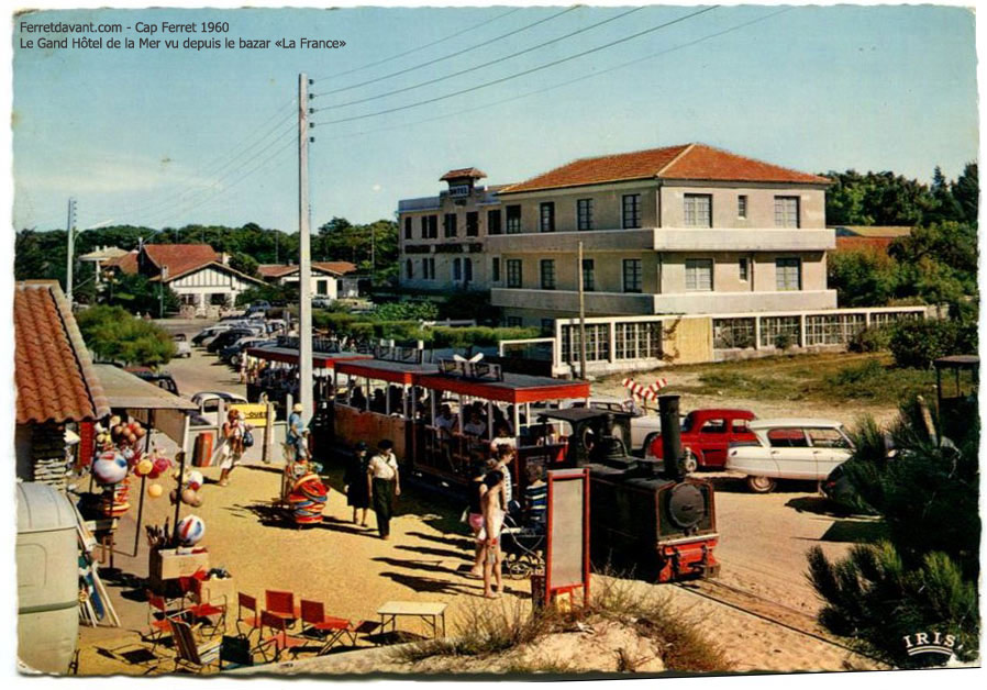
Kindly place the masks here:
<instances>
[{"instance_id":1,"label":"red-edged flat roof of the train carriage nearest the locomotive","mask_svg":"<svg viewBox=\"0 0 987 690\"><path fill-rule=\"evenodd\" d=\"M415 382L434 390L510 403L589 398L587 381L564 381L526 374L504 374L500 381L468 378L461 372L433 374L422 376Z\"/></svg>"}]
</instances>

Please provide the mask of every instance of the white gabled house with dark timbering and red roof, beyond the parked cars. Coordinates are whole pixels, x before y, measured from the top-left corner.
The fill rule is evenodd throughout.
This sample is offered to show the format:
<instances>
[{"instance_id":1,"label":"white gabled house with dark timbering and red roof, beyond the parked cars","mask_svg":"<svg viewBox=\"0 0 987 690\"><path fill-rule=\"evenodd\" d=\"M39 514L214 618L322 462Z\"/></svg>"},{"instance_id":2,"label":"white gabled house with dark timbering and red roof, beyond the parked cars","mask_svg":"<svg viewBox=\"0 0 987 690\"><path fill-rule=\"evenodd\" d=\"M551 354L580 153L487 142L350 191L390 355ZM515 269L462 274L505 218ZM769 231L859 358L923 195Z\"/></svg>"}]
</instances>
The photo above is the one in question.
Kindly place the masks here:
<instances>
[{"instance_id":1,"label":"white gabled house with dark timbering and red roof, beyond the parked cars","mask_svg":"<svg viewBox=\"0 0 987 690\"><path fill-rule=\"evenodd\" d=\"M264 285L263 280L232 268L228 257L208 244L142 244L103 265L124 274L141 274L152 282L164 282L197 313L204 313L210 304L232 305L244 290Z\"/></svg>"}]
</instances>

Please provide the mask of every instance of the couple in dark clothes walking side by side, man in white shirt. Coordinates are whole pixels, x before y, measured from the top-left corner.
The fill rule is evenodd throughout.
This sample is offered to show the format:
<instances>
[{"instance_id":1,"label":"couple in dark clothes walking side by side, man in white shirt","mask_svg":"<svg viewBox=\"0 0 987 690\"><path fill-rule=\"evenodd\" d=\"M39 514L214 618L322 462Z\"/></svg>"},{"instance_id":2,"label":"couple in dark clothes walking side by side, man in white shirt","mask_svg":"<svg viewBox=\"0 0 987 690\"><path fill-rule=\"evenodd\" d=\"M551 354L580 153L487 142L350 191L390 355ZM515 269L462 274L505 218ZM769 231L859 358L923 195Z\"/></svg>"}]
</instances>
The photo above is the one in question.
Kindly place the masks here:
<instances>
[{"instance_id":1,"label":"couple in dark clothes walking side by side, man in white shirt","mask_svg":"<svg viewBox=\"0 0 987 690\"><path fill-rule=\"evenodd\" d=\"M357 443L343 478L346 504L353 509L353 523L366 527L367 512L373 507L381 539L390 538L395 499L401 496L401 478L393 448L395 444L385 438L377 444L377 453L368 457L367 444ZM361 513L358 523L357 513Z\"/></svg>"}]
</instances>

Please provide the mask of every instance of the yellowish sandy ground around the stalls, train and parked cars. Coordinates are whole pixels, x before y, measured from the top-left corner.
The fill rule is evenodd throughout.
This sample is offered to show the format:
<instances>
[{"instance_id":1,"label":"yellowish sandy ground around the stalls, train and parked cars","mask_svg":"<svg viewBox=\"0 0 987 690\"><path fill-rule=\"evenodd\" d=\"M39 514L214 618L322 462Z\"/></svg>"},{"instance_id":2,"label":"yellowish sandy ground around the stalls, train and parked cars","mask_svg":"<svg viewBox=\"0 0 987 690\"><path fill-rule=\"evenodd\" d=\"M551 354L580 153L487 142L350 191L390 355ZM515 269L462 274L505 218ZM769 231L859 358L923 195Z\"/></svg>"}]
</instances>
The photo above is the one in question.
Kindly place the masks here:
<instances>
[{"instance_id":1,"label":"yellowish sandy ground around the stalls, train and parked cars","mask_svg":"<svg viewBox=\"0 0 987 690\"><path fill-rule=\"evenodd\" d=\"M199 322L181 327L190 334ZM185 394L198 390L242 391L237 377L229 368L197 350L190 359L168 366ZM595 387L596 388L596 387ZM602 387L600 387L602 388ZM619 389L601 390L621 394ZM684 396L685 410L697 407L730 405L750 408L758 415L819 415L850 421L845 409L799 403L797 410L761 401L723 400L714 397ZM891 410L876 410L890 418ZM218 468L207 468L207 479L219 476ZM743 483L728 475L712 475L717 482L717 508L720 544L717 557L722 565L721 580L754 592L792 610L814 614L820 602L805 578L806 550L821 545L830 556L844 554L853 541L873 537L874 525L866 521L839 519L825 511L825 503L814 493L814 486L783 483L776 493L759 496L746 492ZM376 537L350 522L350 511L342 487L334 486L329 497L324 523L298 531L285 524L282 515L271 509L278 493L279 468L245 466L239 468L231 485L221 488L207 483L201 496L203 505L195 512L207 525L203 544L209 548L213 567L226 568L235 579L235 589L263 598L265 588L290 589L299 597L325 603L332 615L364 620L376 619L377 606L388 600L443 601L448 603L448 627L454 632L464 611L477 605L528 605L526 580L508 580L508 597L497 602L481 599L481 583L466 579L461 572L469 556L465 528L450 518L455 507L435 505L422 512L422 503L413 498L402 501L419 514L401 514L392 523L389 542ZM134 493L138 490L135 485ZM118 550L133 553L136 501L121 521ZM400 509L399 509L400 510ZM160 524L174 509L167 499L148 500L144 523ZM370 524L374 524L373 514ZM82 628L81 674L141 674L149 666L127 663L121 652L140 645L140 632L146 630L147 605L136 578L147 574L147 546L143 535L136 557L117 555L114 565L125 574L110 582L111 597L124 625L122 628ZM697 598L694 593L669 587L647 586L670 598L683 615L696 616L703 630L719 639L729 641L728 653L736 670L795 670L845 667L846 654L838 647L767 623L750 614ZM235 619L235 605L230 619ZM402 627L423 633L412 623ZM230 625L232 631L232 624ZM117 649L117 653L110 650ZM334 654L306 660L300 658L282 672L366 672L388 670L408 672L422 669L393 666L381 658L381 652ZM350 660L347 660L350 659ZM342 665L342 667L340 666ZM354 665L352 668L347 665ZM369 668L368 668L369 667ZM171 669L168 661L160 670ZM363 670L357 670L363 669ZM439 670L439 669L434 669Z\"/></svg>"}]
</instances>

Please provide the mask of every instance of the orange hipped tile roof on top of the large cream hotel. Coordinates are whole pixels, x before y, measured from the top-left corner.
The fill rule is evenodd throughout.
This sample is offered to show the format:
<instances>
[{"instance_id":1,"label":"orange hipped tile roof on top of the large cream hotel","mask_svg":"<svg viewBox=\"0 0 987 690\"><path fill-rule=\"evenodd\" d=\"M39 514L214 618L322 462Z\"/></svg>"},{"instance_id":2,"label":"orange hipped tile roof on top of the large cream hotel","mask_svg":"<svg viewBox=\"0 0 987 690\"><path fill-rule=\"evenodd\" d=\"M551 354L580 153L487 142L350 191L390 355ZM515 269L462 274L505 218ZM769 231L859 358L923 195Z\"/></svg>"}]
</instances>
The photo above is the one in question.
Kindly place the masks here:
<instances>
[{"instance_id":1,"label":"orange hipped tile roof on top of the large cream hotel","mask_svg":"<svg viewBox=\"0 0 987 690\"><path fill-rule=\"evenodd\" d=\"M501 193L600 185L639 179L827 185L829 179L738 156L705 144L684 144L628 154L580 158Z\"/></svg>"}]
</instances>

